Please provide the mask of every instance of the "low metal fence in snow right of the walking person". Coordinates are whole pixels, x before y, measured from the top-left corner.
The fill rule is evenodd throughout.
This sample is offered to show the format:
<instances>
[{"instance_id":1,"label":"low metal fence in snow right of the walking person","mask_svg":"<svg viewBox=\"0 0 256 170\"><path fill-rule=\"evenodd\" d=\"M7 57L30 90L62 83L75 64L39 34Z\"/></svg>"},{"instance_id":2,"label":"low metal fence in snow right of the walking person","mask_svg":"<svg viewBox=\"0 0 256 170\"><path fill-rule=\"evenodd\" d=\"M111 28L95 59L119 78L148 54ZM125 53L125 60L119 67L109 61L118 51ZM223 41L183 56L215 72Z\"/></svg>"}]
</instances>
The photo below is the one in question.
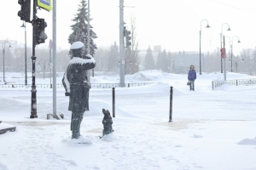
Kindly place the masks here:
<instances>
[{"instance_id":1,"label":"low metal fence in snow right of the walking person","mask_svg":"<svg viewBox=\"0 0 256 170\"><path fill-rule=\"evenodd\" d=\"M234 86L252 86L252 85L256 85L256 78L227 80L227 81L212 81L212 89L218 88L223 84L230 84Z\"/></svg>"}]
</instances>

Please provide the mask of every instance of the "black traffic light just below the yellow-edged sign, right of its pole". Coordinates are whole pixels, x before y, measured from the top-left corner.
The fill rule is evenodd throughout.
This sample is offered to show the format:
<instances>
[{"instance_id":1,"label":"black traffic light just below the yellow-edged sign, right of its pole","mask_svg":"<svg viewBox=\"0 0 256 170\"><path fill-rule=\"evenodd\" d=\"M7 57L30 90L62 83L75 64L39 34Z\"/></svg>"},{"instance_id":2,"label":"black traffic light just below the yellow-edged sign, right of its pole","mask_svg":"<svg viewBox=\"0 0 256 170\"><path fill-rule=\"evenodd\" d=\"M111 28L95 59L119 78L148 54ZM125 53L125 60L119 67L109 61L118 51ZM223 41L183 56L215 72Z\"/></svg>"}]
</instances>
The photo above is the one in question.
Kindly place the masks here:
<instances>
[{"instance_id":1,"label":"black traffic light just below the yellow-edged sign, right of its pole","mask_svg":"<svg viewBox=\"0 0 256 170\"><path fill-rule=\"evenodd\" d=\"M36 19L36 44L44 43L47 39L47 35L44 33L44 28L47 26L47 23L44 19Z\"/></svg>"}]
</instances>

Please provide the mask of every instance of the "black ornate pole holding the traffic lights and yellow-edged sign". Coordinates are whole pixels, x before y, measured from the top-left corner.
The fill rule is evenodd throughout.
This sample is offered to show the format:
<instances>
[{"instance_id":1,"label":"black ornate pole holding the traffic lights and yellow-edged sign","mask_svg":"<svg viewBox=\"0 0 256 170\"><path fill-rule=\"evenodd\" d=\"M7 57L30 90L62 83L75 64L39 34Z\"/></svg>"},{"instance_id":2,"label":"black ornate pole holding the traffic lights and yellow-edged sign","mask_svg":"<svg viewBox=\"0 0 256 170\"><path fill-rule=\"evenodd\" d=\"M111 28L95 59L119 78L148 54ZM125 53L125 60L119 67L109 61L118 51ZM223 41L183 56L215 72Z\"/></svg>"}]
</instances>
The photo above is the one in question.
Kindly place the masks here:
<instances>
[{"instance_id":1,"label":"black ornate pole holding the traffic lights and yellow-edged sign","mask_svg":"<svg viewBox=\"0 0 256 170\"><path fill-rule=\"evenodd\" d=\"M36 0L33 0L33 20L32 20L32 90L31 90L31 116L30 118L37 118L38 111L37 111L37 87L36 87L36 16L37 14L37 7L36 7Z\"/></svg>"}]
</instances>

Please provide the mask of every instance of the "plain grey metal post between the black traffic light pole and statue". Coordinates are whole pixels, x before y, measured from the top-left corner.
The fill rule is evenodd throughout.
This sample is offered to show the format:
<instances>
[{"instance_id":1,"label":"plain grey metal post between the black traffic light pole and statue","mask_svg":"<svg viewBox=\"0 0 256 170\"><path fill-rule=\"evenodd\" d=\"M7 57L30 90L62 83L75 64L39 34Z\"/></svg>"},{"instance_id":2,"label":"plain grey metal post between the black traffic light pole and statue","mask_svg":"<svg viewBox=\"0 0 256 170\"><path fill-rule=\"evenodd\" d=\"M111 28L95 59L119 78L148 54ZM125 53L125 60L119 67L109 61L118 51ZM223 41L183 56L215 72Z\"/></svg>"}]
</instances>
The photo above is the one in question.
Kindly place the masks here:
<instances>
[{"instance_id":1,"label":"plain grey metal post between the black traffic light pole and statue","mask_svg":"<svg viewBox=\"0 0 256 170\"><path fill-rule=\"evenodd\" d=\"M52 13L52 23L53 23L53 116L56 116L56 0L53 0L53 13Z\"/></svg>"}]
</instances>

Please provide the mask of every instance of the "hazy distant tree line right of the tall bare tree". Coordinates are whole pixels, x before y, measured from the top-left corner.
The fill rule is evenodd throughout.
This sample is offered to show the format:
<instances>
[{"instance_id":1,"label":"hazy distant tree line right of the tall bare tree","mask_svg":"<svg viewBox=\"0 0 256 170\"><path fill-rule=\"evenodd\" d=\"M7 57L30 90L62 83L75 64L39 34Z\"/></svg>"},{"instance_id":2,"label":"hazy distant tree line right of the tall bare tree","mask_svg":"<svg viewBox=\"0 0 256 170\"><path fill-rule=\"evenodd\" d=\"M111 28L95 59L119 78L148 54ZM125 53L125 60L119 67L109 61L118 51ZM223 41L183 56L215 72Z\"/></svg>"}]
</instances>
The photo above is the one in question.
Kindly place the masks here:
<instances>
[{"instance_id":1,"label":"hazy distant tree line right of the tall bare tree","mask_svg":"<svg viewBox=\"0 0 256 170\"><path fill-rule=\"evenodd\" d=\"M154 60L153 52L150 47L148 47L147 53L145 55L144 70L161 70L165 72L172 73L184 73L184 71L179 70L175 67L174 56L179 54L188 54L187 52L178 53L166 53L166 50L160 51L157 55L156 60ZM227 52L225 59L225 70L231 72L231 53ZM198 56L199 57L199 56ZM185 68L186 71L189 70ZM196 71L199 72L200 68L195 67ZM185 72L186 72L185 71ZM216 48L212 53L205 54L204 65L202 65L202 72L218 72L221 71L221 59L220 50ZM243 50L240 54L232 54L232 72L245 73L248 75L256 75L256 48Z\"/></svg>"}]
</instances>

